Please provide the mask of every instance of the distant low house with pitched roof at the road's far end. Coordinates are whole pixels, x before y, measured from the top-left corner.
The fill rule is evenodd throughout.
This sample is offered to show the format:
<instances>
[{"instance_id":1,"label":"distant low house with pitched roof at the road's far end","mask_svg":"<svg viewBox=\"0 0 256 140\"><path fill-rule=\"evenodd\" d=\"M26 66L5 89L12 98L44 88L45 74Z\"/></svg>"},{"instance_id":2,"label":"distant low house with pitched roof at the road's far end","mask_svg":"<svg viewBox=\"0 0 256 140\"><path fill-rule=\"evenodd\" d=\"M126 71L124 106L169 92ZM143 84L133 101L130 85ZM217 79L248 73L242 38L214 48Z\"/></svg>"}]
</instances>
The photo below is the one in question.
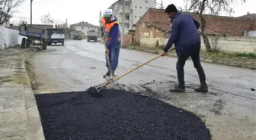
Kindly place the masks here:
<instances>
[{"instance_id":1,"label":"distant low house with pitched roof at the road's far end","mask_svg":"<svg viewBox=\"0 0 256 140\"><path fill-rule=\"evenodd\" d=\"M98 26L95 26L95 25L85 22L85 21L72 24L72 25L70 25L70 27L72 28L72 30L82 31L84 36L87 36L88 30L96 30L96 32L98 32Z\"/></svg>"}]
</instances>

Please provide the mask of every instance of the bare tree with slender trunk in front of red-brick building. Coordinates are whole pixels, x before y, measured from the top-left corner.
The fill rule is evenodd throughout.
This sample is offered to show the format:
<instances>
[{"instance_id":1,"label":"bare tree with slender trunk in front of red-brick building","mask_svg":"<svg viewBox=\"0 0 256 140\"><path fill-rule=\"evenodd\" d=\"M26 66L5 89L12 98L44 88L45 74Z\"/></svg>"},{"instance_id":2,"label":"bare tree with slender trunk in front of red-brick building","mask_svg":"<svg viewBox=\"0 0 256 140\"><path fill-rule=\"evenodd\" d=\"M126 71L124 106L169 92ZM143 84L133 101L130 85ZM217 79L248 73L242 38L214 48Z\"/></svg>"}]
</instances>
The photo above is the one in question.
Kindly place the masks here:
<instances>
[{"instance_id":1,"label":"bare tree with slender trunk in front of red-brick building","mask_svg":"<svg viewBox=\"0 0 256 140\"><path fill-rule=\"evenodd\" d=\"M231 14L233 9L231 4L237 0L190 0L189 11L196 12L200 17L201 32L206 51L211 51L211 45L206 34L206 19L203 14L218 15L220 12ZM245 0L239 0L245 2Z\"/></svg>"}]
</instances>

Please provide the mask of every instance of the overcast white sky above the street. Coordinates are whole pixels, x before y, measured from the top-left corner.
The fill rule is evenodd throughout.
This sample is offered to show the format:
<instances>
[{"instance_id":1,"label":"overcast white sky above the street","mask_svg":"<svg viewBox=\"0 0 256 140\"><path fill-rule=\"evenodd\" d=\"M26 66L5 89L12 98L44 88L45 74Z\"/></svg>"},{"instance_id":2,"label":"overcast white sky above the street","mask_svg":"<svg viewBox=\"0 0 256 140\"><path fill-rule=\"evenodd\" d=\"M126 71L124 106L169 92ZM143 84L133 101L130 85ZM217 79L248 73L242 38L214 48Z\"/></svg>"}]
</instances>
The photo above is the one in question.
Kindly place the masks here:
<instances>
[{"instance_id":1,"label":"overcast white sky above the street","mask_svg":"<svg viewBox=\"0 0 256 140\"><path fill-rule=\"evenodd\" d=\"M139 1L139 0L138 0ZM158 0L161 1L161 0ZM255 0L246 0L246 4L242 4L241 0L237 0L233 4L235 13L233 17L244 14L256 13ZM33 23L40 23L40 17L43 14L50 13L57 22L66 22L68 24L78 23L79 21L88 21L94 25L98 25L99 12L108 8L116 0L33 0ZM171 3L177 7L184 7L184 0L163 0L164 5ZM12 20L26 19L30 22L30 0L26 0L20 7L16 9Z\"/></svg>"}]
</instances>

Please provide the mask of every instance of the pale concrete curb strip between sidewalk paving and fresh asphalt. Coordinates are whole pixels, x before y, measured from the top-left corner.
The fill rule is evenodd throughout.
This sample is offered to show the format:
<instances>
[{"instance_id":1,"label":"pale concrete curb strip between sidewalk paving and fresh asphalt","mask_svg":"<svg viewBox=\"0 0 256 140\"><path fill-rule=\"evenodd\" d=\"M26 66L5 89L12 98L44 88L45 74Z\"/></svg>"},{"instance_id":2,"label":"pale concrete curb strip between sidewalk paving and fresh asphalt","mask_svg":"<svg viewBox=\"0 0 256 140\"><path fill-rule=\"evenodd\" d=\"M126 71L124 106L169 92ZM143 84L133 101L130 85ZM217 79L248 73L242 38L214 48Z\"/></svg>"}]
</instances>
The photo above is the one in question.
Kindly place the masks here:
<instances>
[{"instance_id":1,"label":"pale concrete curb strip between sidewalk paving and fresh asphalt","mask_svg":"<svg viewBox=\"0 0 256 140\"><path fill-rule=\"evenodd\" d=\"M37 107L37 101L30 84L30 78L25 67L25 60L22 61L21 67L24 69L24 72L26 72L25 75L29 83L29 86L24 86L24 99L27 114L26 140L45 140L41 117Z\"/></svg>"}]
</instances>

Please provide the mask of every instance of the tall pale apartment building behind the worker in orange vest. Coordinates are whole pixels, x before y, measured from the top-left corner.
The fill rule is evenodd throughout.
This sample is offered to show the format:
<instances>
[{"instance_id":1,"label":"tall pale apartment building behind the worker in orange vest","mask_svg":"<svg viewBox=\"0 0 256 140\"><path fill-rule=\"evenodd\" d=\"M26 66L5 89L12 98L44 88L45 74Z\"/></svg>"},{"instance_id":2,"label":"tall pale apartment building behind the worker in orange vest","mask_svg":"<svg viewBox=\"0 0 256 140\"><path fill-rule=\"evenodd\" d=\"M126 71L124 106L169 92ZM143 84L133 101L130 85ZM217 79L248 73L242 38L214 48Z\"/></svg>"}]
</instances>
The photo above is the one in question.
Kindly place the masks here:
<instances>
[{"instance_id":1,"label":"tall pale apartment building behind the worker in orange vest","mask_svg":"<svg viewBox=\"0 0 256 140\"><path fill-rule=\"evenodd\" d=\"M124 23L125 33L128 33L128 30L133 28L133 24L135 24L149 8L155 8L155 0L126 0L124 8L125 20L123 21L123 0L114 2L114 4L110 6L120 26ZM122 30L122 28L120 29Z\"/></svg>"}]
</instances>

